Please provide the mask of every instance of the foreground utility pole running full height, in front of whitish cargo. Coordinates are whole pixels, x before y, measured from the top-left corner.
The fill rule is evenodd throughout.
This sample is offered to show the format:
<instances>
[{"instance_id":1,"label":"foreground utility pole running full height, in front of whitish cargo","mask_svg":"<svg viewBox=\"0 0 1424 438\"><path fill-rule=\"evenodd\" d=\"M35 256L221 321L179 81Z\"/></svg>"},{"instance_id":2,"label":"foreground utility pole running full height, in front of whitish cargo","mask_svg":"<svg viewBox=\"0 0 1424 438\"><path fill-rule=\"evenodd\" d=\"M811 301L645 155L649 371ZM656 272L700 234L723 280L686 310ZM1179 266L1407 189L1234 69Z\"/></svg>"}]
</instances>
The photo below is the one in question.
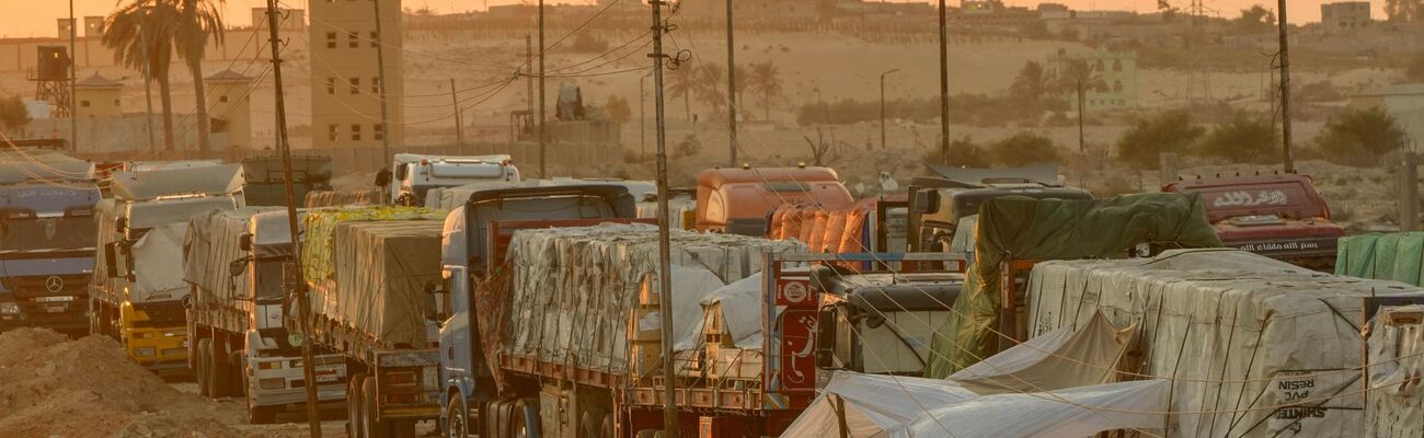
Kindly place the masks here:
<instances>
[{"instance_id":1,"label":"foreground utility pole running full height, in front of whitish cargo","mask_svg":"<svg viewBox=\"0 0 1424 438\"><path fill-rule=\"evenodd\" d=\"M662 435L678 438L676 378L672 365L672 243L668 219L668 142L662 108L662 7L664 0L649 0L652 6L652 87L654 117L658 118L658 316L662 319ZM729 4L731 6L731 4ZM731 9L729 9L731 10Z\"/></svg>"}]
</instances>

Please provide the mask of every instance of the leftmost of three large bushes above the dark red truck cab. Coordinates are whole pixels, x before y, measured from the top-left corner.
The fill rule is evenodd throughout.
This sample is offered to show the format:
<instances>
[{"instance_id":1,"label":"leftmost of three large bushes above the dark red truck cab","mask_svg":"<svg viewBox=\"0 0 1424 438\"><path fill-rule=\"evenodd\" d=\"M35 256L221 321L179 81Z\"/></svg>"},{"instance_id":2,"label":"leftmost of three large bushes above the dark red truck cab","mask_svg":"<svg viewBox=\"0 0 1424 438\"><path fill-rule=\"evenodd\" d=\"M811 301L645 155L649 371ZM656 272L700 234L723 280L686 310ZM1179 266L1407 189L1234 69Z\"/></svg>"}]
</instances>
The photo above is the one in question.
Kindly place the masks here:
<instances>
[{"instance_id":1,"label":"leftmost of three large bushes above the dark red truck cab","mask_svg":"<svg viewBox=\"0 0 1424 438\"><path fill-rule=\"evenodd\" d=\"M1186 152L1203 134L1206 129L1193 124L1192 114L1186 111L1145 117L1118 138L1118 159L1143 169L1156 169L1162 152Z\"/></svg>"}]
</instances>

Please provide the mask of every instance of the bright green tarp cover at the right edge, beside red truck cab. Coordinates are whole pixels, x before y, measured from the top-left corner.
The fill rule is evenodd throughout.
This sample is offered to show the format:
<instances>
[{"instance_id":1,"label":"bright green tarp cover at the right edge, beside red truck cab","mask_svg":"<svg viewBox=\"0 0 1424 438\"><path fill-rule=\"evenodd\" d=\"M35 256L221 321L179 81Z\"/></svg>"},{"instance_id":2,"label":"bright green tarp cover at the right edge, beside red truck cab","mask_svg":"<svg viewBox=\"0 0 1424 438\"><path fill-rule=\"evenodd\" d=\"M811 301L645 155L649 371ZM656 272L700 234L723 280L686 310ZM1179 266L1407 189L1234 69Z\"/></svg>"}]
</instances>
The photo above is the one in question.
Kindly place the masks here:
<instances>
[{"instance_id":1,"label":"bright green tarp cover at the right edge, beside red truck cab","mask_svg":"<svg viewBox=\"0 0 1424 438\"><path fill-rule=\"evenodd\" d=\"M1424 233L1370 233L1340 237L1336 274L1394 280L1420 286L1424 283Z\"/></svg>"}]
</instances>

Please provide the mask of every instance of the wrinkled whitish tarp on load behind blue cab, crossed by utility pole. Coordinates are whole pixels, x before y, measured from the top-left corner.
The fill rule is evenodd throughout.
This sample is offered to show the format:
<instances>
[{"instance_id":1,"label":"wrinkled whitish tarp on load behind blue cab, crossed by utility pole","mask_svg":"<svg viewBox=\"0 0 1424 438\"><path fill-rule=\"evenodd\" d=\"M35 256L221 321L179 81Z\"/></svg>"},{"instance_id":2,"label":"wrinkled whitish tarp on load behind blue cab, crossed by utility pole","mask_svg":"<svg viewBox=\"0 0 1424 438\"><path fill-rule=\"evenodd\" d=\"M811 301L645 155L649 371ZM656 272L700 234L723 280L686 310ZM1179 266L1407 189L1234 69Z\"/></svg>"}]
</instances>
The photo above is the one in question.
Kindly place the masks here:
<instances>
[{"instance_id":1,"label":"wrinkled whitish tarp on load behind blue cab, crossed by utility pole","mask_svg":"<svg viewBox=\"0 0 1424 438\"><path fill-rule=\"evenodd\" d=\"M588 228L531 229L514 233L506 266L508 313L481 310L481 323L503 319L504 353L622 373L628 365L627 319L638 297L639 280L658 269L658 230L649 225L604 223ZM672 265L705 269L722 282L736 282L762 270L766 252L805 252L793 242L736 235L672 232ZM497 303L494 299L486 303ZM481 303L484 304L484 303ZM672 303L674 314L698 303ZM691 310L698 311L698 310ZM755 309L740 311L759 313ZM481 330L493 333L493 330ZM493 348L491 348L493 350ZM488 351L488 350L487 350Z\"/></svg>"}]
</instances>

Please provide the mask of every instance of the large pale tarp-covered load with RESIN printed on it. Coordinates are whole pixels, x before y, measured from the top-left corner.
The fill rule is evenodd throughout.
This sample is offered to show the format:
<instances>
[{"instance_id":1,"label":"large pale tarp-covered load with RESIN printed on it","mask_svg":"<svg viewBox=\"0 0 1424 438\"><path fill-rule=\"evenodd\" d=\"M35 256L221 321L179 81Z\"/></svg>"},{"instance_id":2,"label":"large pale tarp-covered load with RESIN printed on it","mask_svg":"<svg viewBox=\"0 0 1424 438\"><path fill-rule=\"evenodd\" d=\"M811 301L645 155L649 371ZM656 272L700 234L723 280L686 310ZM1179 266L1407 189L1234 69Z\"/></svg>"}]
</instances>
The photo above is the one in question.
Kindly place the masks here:
<instances>
[{"instance_id":1,"label":"large pale tarp-covered load with RESIN printed on it","mask_svg":"<svg viewBox=\"0 0 1424 438\"><path fill-rule=\"evenodd\" d=\"M1363 297L1418 287L1284 269L1240 250L1042 262L1034 336L1098 311L1139 324L1125 368L1172 380L1168 437L1354 437L1364 429ZM1279 434L1279 435L1277 435Z\"/></svg>"}]
</instances>

